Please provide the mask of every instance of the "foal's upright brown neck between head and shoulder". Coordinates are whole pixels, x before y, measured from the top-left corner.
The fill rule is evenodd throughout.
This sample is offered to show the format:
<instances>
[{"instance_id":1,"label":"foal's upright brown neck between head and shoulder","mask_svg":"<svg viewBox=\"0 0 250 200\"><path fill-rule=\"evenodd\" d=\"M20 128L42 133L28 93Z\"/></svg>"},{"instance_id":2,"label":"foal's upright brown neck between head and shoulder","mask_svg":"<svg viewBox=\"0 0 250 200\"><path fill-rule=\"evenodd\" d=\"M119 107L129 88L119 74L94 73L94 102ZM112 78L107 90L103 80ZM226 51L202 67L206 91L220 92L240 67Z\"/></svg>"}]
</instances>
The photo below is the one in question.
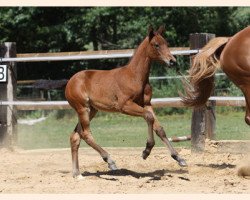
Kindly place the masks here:
<instances>
[{"instance_id":1,"label":"foal's upright brown neck between head and shoulder","mask_svg":"<svg viewBox=\"0 0 250 200\"><path fill-rule=\"evenodd\" d=\"M142 82L148 81L151 59L147 55L147 47L149 45L148 38L137 48L133 58L128 64L128 68L133 72L133 75Z\"/></svg>"}]
</instances>

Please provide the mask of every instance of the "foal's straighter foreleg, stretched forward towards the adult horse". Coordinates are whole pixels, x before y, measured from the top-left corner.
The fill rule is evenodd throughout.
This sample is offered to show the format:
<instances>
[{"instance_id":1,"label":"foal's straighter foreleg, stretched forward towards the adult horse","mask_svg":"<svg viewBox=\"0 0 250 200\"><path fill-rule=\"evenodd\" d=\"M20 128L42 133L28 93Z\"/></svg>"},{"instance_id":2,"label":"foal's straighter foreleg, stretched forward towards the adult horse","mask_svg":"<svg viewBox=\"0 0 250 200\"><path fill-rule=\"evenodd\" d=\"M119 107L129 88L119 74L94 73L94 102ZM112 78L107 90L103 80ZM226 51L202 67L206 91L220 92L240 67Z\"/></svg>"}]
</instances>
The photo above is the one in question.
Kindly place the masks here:
<instances>
[{"instance_id":1,"label":"foal's straighter foreleg, stretched forward towards the adult horse","mask_svg":"<svg viewBox=\"0 0 250 200\"><path fill-rule=\"evenodd\" d=\"M178 155L177 151L173 148L173 146L169 142L169 140L168 140L168 138L166 136L166 133L165 133L163 127L160 125L160 123L159 123L159 121L158 121L158 119L157 119L157 117L156 117L156 115L155 115L155 113L153 111L152 106L151 105L150 106L145 106L144 108L146 110L148 110L150 113L152 113L152 115L154 116L153 130L161 138L161 140L163 141L163 143L168 147L168 149L170 150L172 158L175 159L179 163L180 166L186 166L187 165L186 161L184 159L182 159ZM145 151L147 150L147 148L148 148L148 145L147 145ZM151 151L151 149L148 149L148 150ZM150 153L150 151L148 151L148 152ZM149 154L148 155L147 154L144 155L145 154L144 152L143 152L143 158L146 159L149 156Z\"/></svg>"}]
</instances>

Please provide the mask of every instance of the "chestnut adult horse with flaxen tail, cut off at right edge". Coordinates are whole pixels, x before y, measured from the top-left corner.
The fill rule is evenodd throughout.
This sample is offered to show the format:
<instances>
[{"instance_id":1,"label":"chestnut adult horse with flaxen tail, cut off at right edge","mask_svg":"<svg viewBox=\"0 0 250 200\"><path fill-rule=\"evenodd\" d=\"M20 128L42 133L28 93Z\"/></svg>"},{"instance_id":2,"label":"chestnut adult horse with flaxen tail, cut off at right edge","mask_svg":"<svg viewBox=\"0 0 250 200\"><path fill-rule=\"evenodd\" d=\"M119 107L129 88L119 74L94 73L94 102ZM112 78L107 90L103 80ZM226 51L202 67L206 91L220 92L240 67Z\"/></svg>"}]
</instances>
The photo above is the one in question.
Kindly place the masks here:
<instances>
[{"instance_id":1,"label":"chestnut adult horse with flaxen tail, cut off at right edge","mask_svg":"<svg viewBox=\"0 0 250 200\"><path fill-rule=\"evenodd\" d=\"M218 37L208 42L193 59L183 103L205 105L214 88L214 74L221 68L241 89L246 99L245 122L250 125L250 27L232 37ZM246 172L249 173L250 172Z\"/></svg>"}]
</instances>

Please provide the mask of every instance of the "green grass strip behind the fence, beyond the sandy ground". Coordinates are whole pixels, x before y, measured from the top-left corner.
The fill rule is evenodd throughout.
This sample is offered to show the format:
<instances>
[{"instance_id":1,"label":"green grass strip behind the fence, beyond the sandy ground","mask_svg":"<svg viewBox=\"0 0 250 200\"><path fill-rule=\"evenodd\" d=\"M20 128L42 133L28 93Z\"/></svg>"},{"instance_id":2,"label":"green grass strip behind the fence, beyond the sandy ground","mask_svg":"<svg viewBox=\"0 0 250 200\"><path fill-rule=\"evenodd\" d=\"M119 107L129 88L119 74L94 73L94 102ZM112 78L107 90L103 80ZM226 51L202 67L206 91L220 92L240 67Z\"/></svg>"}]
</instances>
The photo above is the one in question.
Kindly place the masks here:
<instances>
[{"instance_id":1,"label":"green grass strip behind the fence, beyond the sandy ground","mask_svg":"<svg viewBox=\"0 0 250 200\"><path fill-rule=\"evenodd\" d=\"M66 115L56 119L55 114L35 125L18 125L18 145L23 149L70 147L69 135L75 128L77 117ZM245 140L250 129L244 122L244 112L216 114L216 139ZM191 113L159 116L167 136L190 134ZM100 113L91 122L92 134L103 147L144 147L147 140L147 124L139 117ZM156 146L164 146L156 136ZM174 146L190 146L190 142L173 143ZM87 147L84 141L81 147Z\"/></svg>"}]
</instances>

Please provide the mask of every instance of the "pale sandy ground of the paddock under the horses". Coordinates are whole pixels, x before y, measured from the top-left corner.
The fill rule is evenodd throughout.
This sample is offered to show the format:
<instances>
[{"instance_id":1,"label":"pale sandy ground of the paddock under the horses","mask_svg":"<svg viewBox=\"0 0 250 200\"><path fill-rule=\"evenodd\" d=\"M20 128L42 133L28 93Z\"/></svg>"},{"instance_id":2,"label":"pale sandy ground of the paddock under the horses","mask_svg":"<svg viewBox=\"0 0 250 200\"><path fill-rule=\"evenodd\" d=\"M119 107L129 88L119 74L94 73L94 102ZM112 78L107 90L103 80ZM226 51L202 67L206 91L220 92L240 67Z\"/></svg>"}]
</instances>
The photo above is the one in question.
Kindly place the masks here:
<instances>
[{"instance_id":1,"label":"pale sandy ground of the paddock under the horses","mask_svg":"<svg viewBox=\"0 0 250 200\"><path fill-rule=\"evenodd\" d=\"M188 167L180 167L166 148L154 148L147 160L143 148L106 148L116 161L117 171L93 149L80 149L80 170L85 177L71 176L69 149L1 149L0 193L39 194L145 194L145 193L250 193L250 177L237 176L247 158L239 153L218 153L210 145L202 154L178 149Z\"/></svg>"}]
</instances>

